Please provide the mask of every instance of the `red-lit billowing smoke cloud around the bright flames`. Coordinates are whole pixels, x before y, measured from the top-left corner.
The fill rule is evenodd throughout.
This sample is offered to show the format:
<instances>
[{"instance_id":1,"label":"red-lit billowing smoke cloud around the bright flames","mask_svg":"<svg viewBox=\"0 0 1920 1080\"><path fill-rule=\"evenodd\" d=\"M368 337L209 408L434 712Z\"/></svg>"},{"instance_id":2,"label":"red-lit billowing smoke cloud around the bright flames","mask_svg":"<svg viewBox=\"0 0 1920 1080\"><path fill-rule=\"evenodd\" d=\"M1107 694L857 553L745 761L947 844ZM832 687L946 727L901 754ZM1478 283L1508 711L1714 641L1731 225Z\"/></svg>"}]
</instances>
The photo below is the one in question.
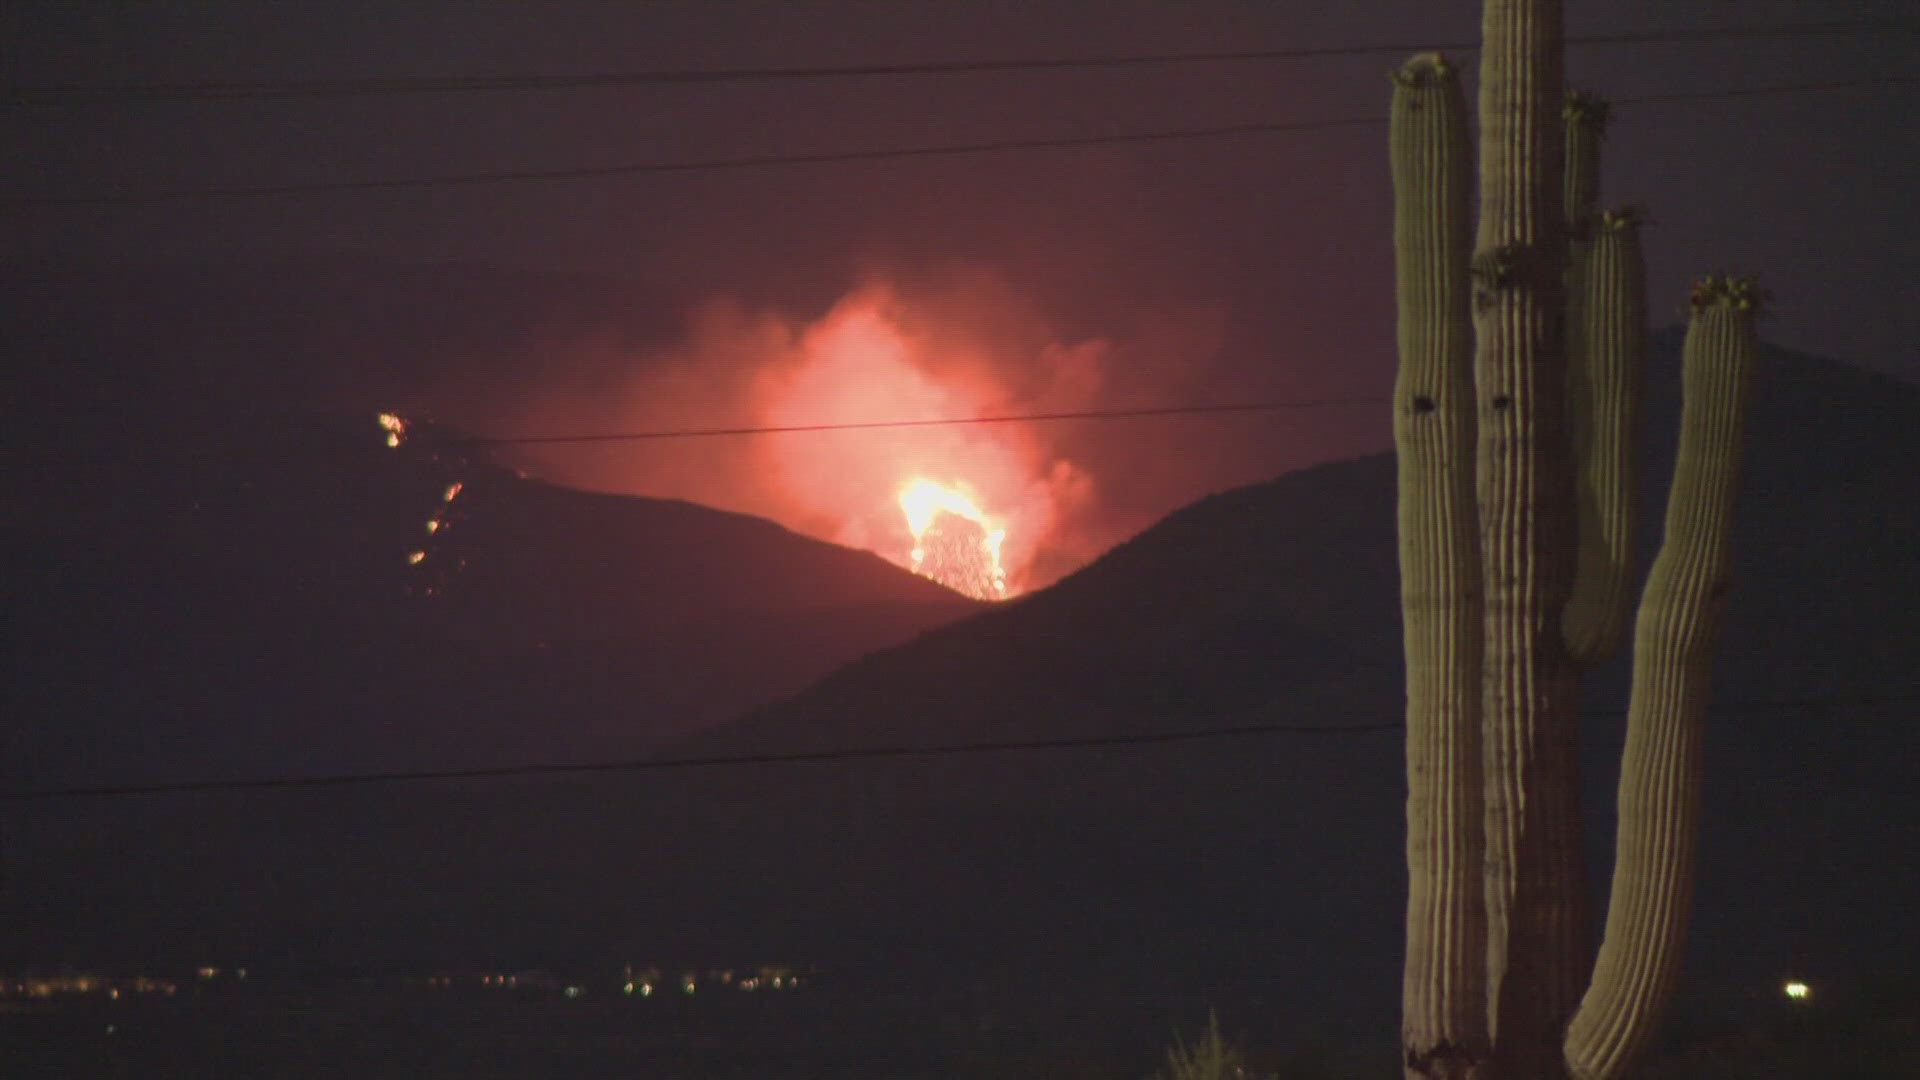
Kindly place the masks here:
<instances>
[{"instance_id":1,"label":"red-lit billowing smoke cloud around the bright flames","mask_svg":"<svg viewBox=\"0 0 1920 1080\"><path fill-rule=\"evenodd\" d=\"M1183 325L1181 352L1210 352ZM1110 405L1116 357L1098 336L1062 340L1039 309L987 273L906 288L874 277L810 319L733 302L697 309L680 346L620 357L572 342L561 363L618 371L584 394L543 390L516 430L684 430L1066 413ZM582 365L582 352L611 352ZM557 357L559 359L559 357ZM1119 398L1135 398L1121 392ZM1127 404L1121 400L1121 404ZM770 517L822 540L914 567L900 498L937 484L977 507L945 528L993 536L1004 594L1046 584L1116 540L1096 515L1102 477L1075 438L1085 423L970 423L534 450L530 467L582 486L684 498ZM972 532L968 532L972 528ZM977 590L975 590L977 592Z\"/></svg>"}]
</instances>

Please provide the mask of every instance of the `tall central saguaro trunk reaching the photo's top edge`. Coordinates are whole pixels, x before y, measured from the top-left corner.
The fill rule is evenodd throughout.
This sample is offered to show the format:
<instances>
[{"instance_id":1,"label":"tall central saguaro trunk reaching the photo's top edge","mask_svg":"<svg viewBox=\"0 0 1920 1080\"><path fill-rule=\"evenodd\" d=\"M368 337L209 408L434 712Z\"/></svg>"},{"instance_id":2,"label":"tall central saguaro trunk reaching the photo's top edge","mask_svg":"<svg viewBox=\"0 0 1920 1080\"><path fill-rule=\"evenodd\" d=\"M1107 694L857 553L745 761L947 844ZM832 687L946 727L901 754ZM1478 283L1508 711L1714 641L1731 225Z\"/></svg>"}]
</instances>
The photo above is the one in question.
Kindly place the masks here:
<instances>
[{"instance_id":1,"label":"tall central saguaro trunk reaching the photo's top edge","mask_svg":"<svg viewBox=\"0 0 1920 1080\"><path fill-rule=\"evenodd\" d=\"M1475 244L1488 997L1496 1067L1551 1076L1586 984L1565 430L1561 10L1488 0Z\"/></svg>"}]
</instances>

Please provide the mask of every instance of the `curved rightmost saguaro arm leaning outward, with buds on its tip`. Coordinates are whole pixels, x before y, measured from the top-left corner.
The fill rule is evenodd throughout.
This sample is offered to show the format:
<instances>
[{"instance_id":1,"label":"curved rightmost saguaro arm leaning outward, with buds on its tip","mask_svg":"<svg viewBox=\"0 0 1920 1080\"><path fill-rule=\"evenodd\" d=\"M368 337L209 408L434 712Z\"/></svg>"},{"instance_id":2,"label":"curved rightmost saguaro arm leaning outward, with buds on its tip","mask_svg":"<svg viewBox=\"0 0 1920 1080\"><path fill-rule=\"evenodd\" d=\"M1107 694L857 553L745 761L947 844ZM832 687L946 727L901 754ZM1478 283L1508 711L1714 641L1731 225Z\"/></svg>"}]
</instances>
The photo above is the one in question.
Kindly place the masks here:
<instances>
[{"instance_id":1,"label":"curved rightmost saguaro arm leaning outward, with buds on its tip","mask_svg":"<svg viewBox=\"0 0 1920 1080\"><path fill-rule=\"evenodd\" d=\"M1699 826L1701 730L1726 605L1755 304L1751 282L1736 279L1709 279L1693 294L1667 534L1634 626L1607 930L1594 982L1567 1032L1567 1065L1582 1080L1626 1072L1651 1038L1680 970Z\"/></svg>"}]
</instances>

